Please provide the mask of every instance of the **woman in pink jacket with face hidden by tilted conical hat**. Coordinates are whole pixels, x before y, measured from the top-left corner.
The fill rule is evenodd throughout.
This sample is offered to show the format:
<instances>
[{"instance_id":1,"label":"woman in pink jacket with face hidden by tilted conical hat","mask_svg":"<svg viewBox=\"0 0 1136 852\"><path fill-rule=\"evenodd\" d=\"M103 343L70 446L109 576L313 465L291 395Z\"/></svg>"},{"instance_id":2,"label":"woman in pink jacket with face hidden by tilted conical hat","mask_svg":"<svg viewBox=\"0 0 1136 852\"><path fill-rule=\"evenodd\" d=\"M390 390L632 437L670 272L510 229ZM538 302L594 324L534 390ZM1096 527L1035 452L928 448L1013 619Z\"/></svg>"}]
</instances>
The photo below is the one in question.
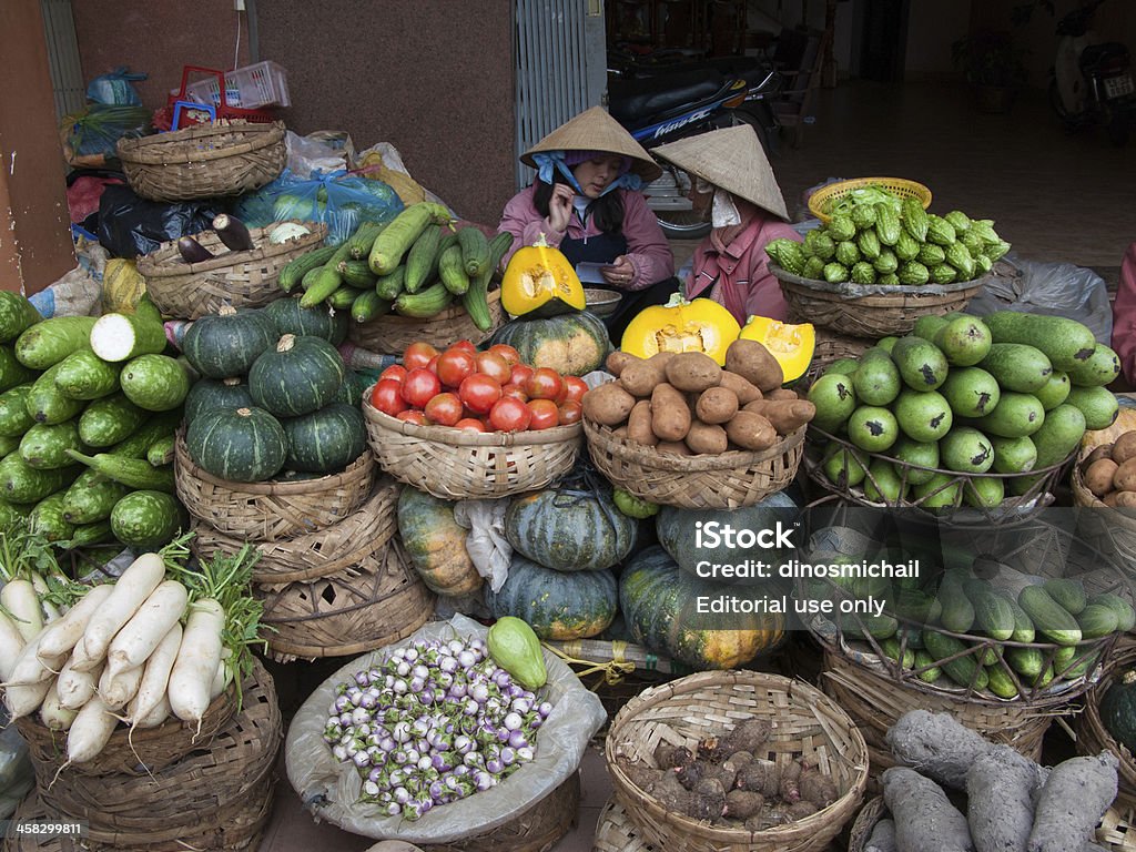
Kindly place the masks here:
<instances>
[{"instance_id":1,"label":"woman in pink jacket with face hidden by tilted conical hat","mask_svg":"<svg viewBox=\"0 0 1136 852\"><path fill-rule=\"evenodd\" d=\"M709 296L738 323L750 316L785 320L788 306L769 272L766 245L801 241L785 220L788 212L774 170L749 125L711 131L655 149L713 191L713 229L694 252L686 298Z\"/></svg>"}]
</instances>

